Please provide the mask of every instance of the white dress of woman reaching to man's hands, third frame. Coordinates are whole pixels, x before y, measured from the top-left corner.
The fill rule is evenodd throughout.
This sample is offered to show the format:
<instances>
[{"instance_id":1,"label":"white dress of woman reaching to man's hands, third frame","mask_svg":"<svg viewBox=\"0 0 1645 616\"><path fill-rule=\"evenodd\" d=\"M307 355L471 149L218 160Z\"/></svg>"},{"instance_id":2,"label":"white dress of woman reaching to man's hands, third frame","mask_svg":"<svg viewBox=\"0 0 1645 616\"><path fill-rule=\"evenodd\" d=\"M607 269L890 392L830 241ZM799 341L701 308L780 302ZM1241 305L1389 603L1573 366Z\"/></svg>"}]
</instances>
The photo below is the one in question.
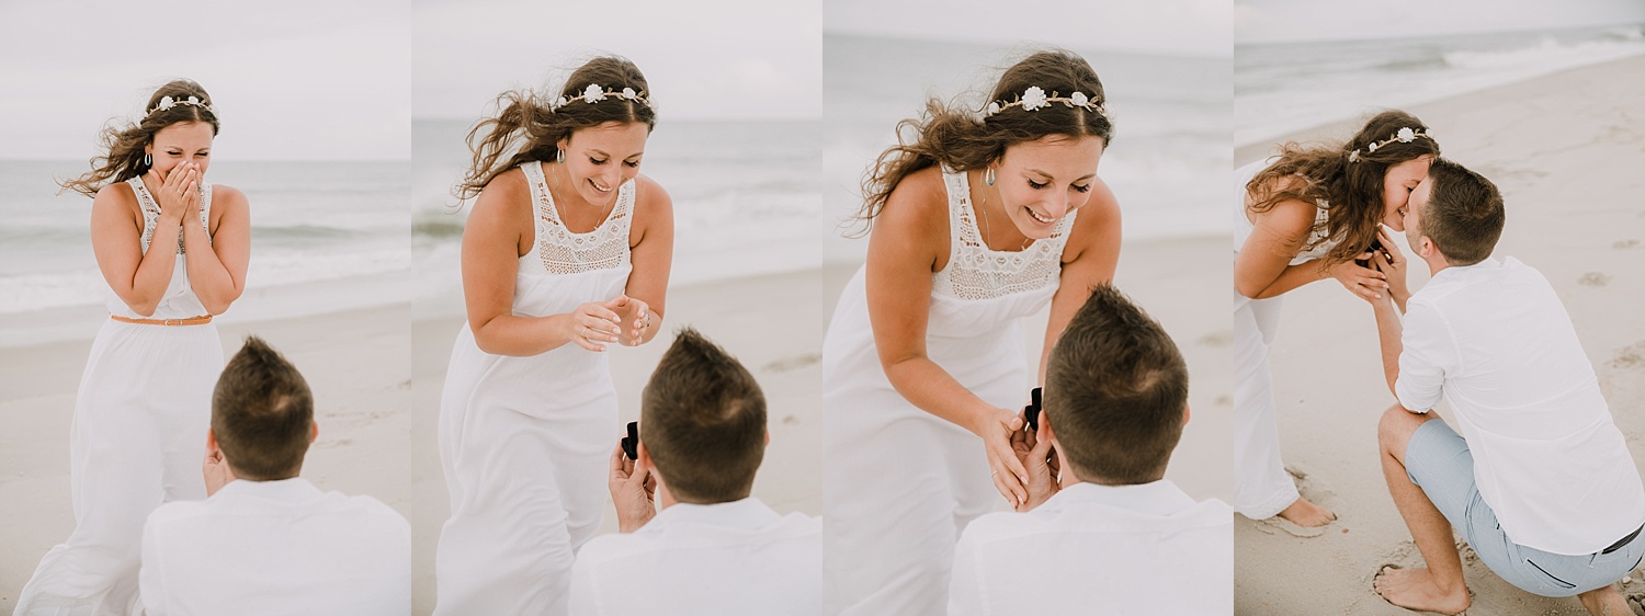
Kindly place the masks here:
<instances>
[{"instance_id":1,"label":"white dress of woman reaching to man's hands, third frame","mask_svg":"<svg viewBox=\"0 0 1645 616\"><path fill-rule=\"evenodd\" d=\"M964 172L944 172L949 258L931 279L926 355L989 404L1028 402L1022 317L1056 294L1069 212L1022 251L982 241ZM982 440L910 404L880 366L867 266L846 284L822 342L826 613L943 614L954 544L1003 503Z\"/></svg>"}]
</instances>

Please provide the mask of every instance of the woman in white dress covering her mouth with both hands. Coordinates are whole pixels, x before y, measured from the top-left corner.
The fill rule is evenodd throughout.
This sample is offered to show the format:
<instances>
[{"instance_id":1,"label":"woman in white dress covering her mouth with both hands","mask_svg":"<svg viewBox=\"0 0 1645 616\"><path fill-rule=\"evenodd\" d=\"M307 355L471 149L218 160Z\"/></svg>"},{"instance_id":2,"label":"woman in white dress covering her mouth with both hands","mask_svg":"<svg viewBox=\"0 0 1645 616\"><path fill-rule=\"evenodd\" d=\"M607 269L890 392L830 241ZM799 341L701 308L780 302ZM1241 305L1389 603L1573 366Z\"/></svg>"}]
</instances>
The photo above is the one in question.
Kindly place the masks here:
<instances>
[{"instance_id":1,"label":"woman in white dress covering her mouth with both hands","mask_svg":"<svg viewBox=\"0 0 1645 616\"><path fill-rule=\"evenodd\" d=\"M201 460L222 371L212 317L245 289L245 194L206 184L217 112L192 80L148 97L102 135L104 156L64 189L92 197L92 251L109 315L92 342L69 432L74 532L18 596L18 614L137 614L143 521L206 498ZM153 248L153 250L150 250Z\"/></svg>"}]
</instances>

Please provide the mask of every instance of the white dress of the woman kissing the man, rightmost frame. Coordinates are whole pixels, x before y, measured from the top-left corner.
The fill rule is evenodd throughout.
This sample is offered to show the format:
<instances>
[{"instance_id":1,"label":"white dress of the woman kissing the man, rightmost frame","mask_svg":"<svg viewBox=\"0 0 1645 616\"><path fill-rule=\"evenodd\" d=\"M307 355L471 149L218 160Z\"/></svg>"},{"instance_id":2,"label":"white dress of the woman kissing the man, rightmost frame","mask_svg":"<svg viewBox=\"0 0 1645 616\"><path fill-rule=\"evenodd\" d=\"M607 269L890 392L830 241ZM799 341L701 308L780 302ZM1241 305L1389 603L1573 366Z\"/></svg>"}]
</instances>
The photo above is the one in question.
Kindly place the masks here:
<instances>
[{"instance_id":1,"label":"white dress of the woman kissing the man, rightmost frame","mask_svg":"<svg viewBox=\"0 0 1645 616\"><path fill-rule=\"evenodd\" d=\"M1239 255L1255 227L1245 217L1245 184L1273 159L1250 163L1234 171L1235 223L1234 253ZM1337 245L1326 227L1331 204L1318 202L1313 246L1291 258L1291 264L1319 260ZM1234 292L1234 511L1250 519L1268 519L1296 501L1296 483L1280 458L1280 424L1273 404L1273 373L1268 348L1280 330L1283 297L1250 299Z\"/></svg>"}]
</instances>

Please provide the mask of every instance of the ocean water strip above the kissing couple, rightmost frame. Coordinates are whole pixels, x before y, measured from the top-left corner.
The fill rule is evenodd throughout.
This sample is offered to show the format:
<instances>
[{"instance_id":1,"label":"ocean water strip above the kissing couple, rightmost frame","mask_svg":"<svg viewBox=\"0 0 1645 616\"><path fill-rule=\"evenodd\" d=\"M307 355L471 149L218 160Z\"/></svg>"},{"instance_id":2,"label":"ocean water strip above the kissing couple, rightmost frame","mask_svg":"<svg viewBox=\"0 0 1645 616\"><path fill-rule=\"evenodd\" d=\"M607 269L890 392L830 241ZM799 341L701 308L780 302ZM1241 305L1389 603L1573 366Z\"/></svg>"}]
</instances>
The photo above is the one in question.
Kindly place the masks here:
<instances>
[{"instance_id":1,"label":"ocean water strip above the kissing couple, rightmost frame","mask_svg":"<svg viewBox=\"0 0 1645 616\"><path fill-rule=\"evenodd\" d=\"M1645 25L1234 46L1234 143L1645 54Z\"/></svg>"}]
</instances>

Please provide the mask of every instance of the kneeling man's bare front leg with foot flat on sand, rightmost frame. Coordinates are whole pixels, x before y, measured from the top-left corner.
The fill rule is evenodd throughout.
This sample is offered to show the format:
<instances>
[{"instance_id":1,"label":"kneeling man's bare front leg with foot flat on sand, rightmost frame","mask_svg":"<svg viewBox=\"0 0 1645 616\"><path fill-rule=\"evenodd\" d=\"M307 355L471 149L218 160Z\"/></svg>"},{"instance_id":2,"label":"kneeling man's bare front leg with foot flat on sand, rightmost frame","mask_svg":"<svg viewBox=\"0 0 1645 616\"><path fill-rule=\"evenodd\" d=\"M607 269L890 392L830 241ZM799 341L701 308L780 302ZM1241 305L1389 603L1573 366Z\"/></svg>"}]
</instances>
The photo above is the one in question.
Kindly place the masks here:
<instances>
[{"instance_id":1,"label":"kneeling man's bare front leg with foot flat on sand, rightmost frame","mask_svg":"<svg viewBox=\"0 0 1645 616\"><path fill-rule=\"evenodd\" d=\"M1467 585L1462 580L1462 557L1451 540L1451 522L1434 508L1423 488L1405 473L1405 445L1423 422L1438 419L1393 406L1382 414L1377 440L1382 445L1382 476L1388 483L1393 504L1411 531L1426 568L1388 568L1377 575L1377 595L1400 608L1456 614L1467 609Z\"/></svg>"}]
</instances>

